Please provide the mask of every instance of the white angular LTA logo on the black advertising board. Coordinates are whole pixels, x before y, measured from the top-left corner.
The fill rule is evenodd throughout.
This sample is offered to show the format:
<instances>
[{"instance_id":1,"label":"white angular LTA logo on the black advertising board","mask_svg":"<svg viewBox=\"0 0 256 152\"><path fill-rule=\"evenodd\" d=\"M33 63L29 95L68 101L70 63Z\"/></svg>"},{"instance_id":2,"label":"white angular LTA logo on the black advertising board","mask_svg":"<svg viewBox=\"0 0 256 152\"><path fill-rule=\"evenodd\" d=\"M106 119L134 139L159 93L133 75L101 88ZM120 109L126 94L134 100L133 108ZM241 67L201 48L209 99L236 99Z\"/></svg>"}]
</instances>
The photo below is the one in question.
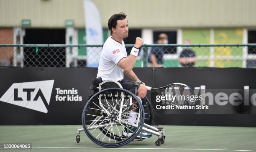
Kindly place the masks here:
<instances>
[{"instance_id":1,"label":"white angular LTA logo on the black advertising board","mask_svg":"<svg viewBox=\"0 0 256 152\"><path fill-rule=\"evenodd\" d=\"M47 113L54 80L15 83L0 101Z\"/></svg>"}]
</instances>

